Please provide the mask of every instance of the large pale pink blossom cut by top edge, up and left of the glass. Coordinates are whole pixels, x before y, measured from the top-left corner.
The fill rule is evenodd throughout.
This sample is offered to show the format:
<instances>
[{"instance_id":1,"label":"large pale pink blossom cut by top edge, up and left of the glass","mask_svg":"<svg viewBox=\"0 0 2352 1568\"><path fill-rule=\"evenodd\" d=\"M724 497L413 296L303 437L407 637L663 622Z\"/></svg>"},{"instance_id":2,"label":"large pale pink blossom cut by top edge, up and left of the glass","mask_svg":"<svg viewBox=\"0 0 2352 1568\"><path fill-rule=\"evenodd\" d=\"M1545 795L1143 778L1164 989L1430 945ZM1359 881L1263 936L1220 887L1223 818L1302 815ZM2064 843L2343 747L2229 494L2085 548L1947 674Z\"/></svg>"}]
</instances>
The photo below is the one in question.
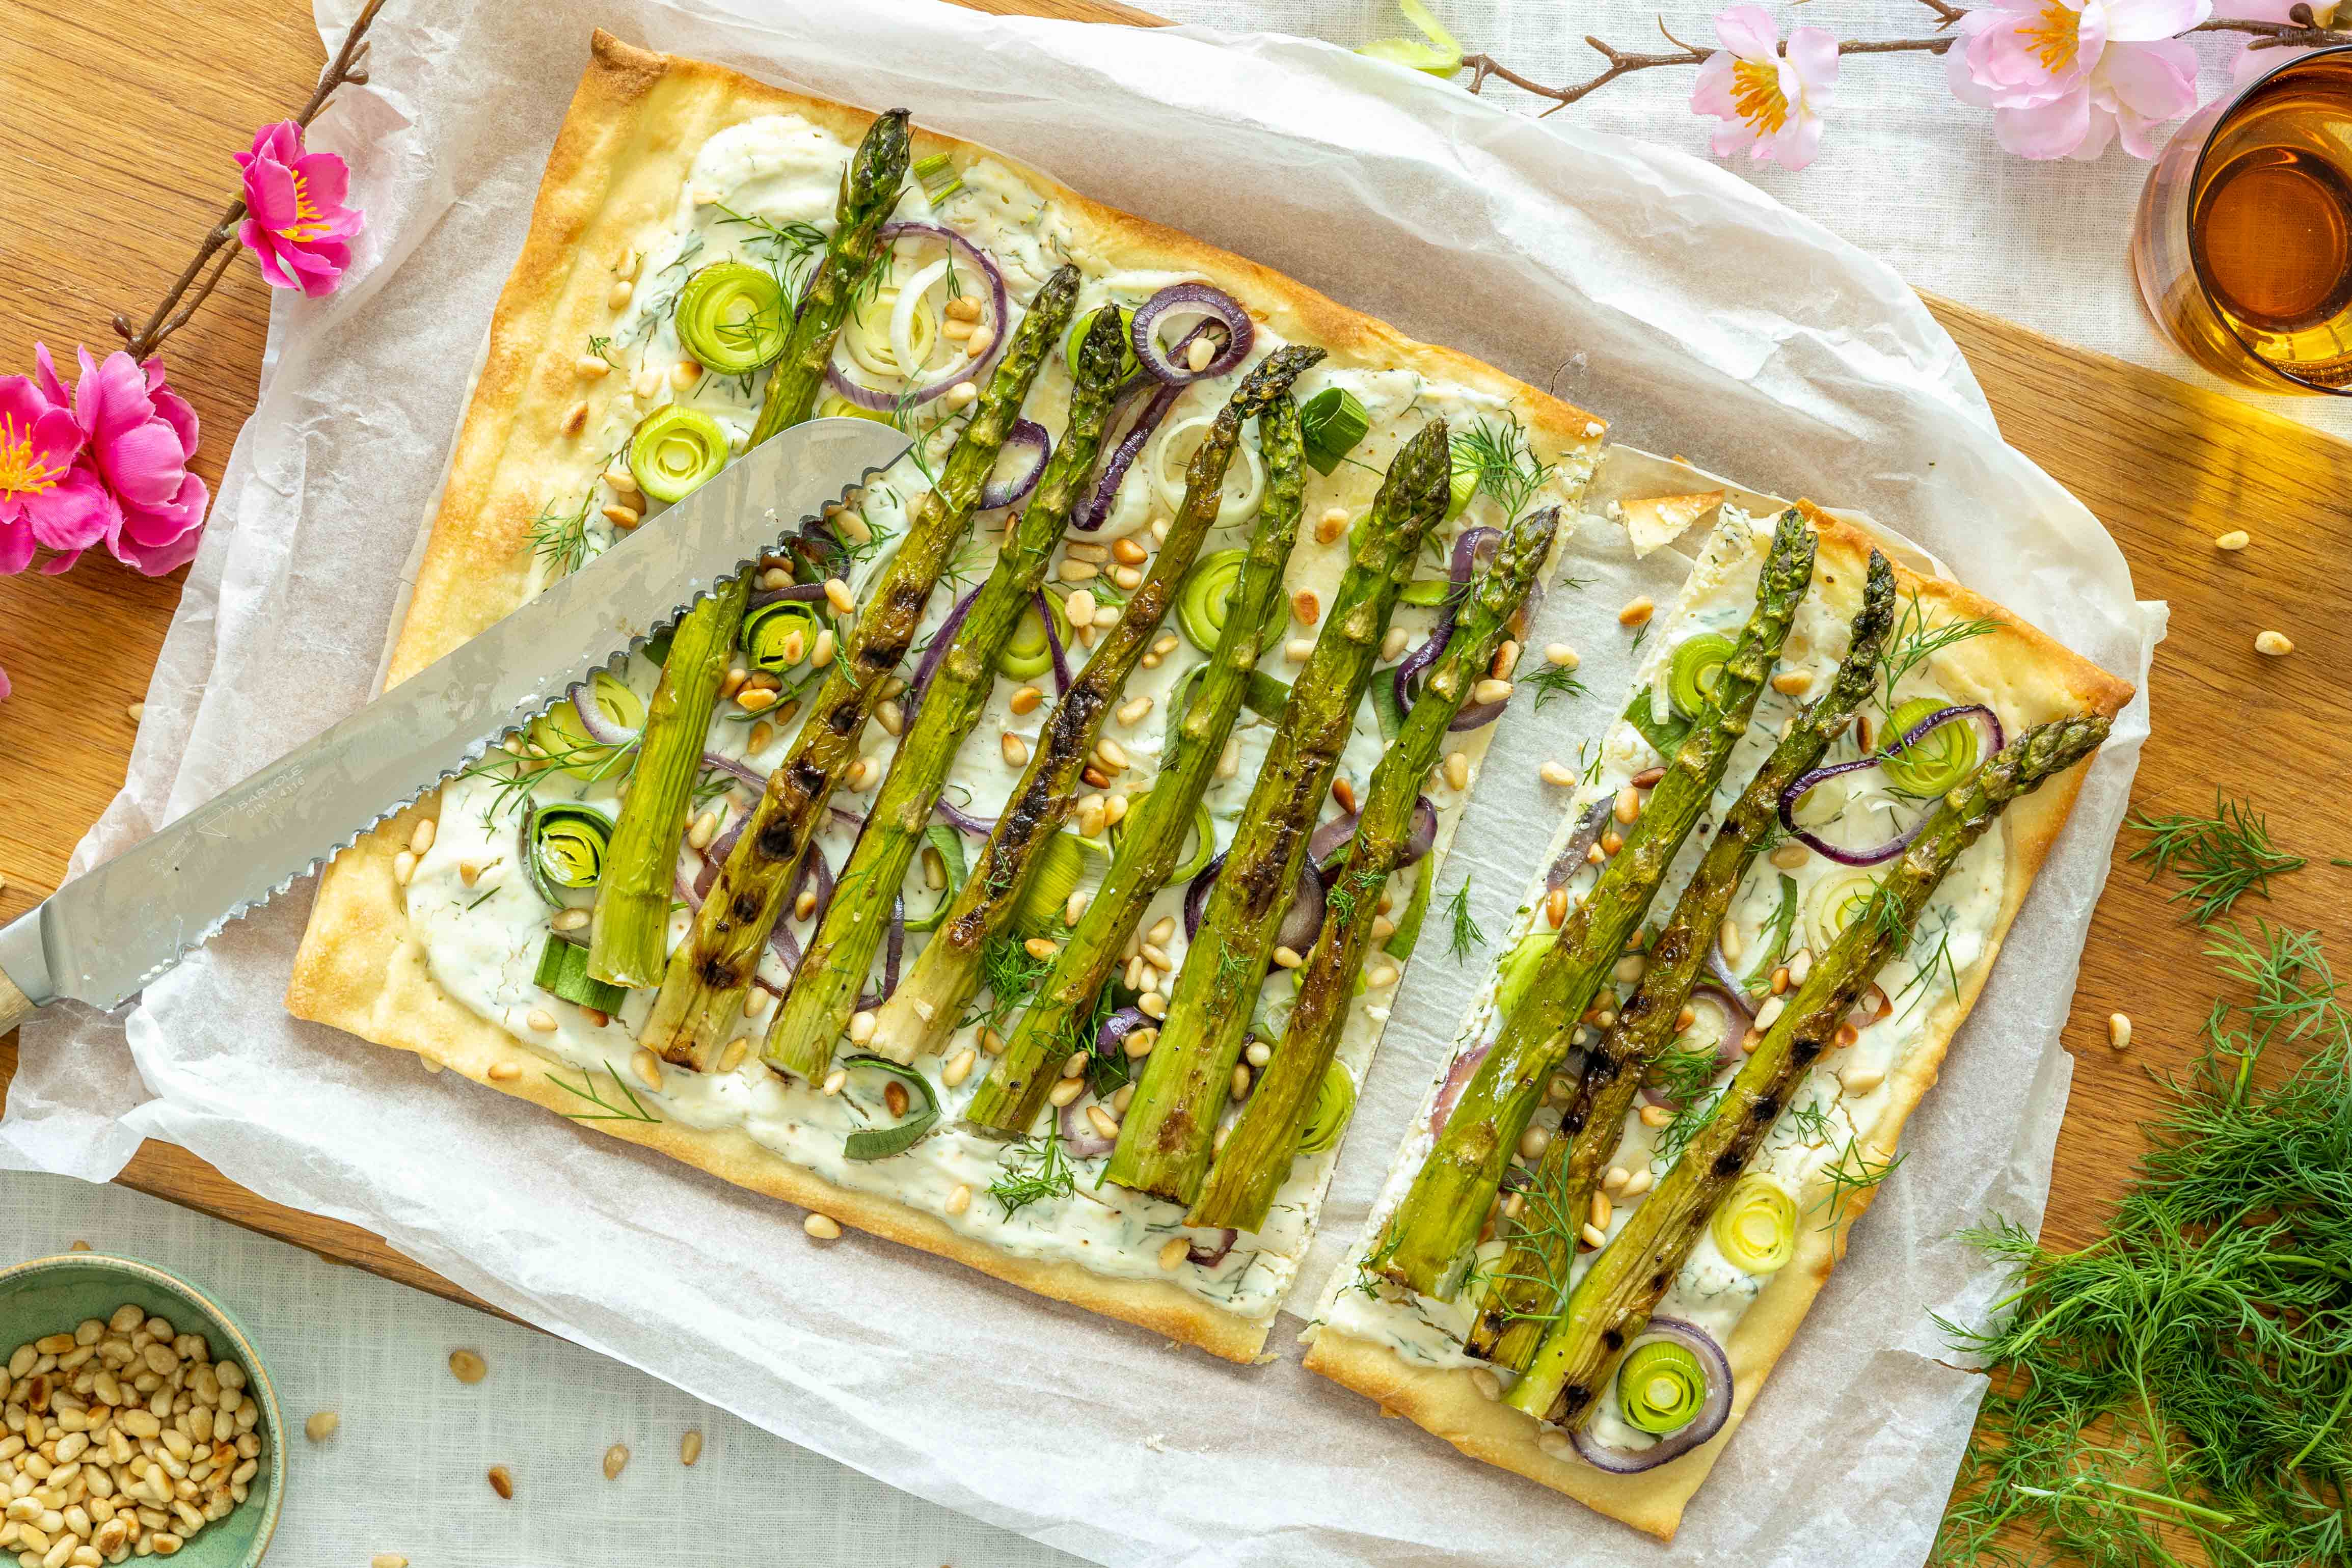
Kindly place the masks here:
<instances>
[{"instance_id":1,"label":"large pale pink blossom cut by top edge, up and left of the glass","mask_svg":"<svg viewBox=\"0 0 2352 1568\"><path fill-rule=\"evenodd\" d=\"M2197 54L2176 33L2211 14L2213 0L1992 0L1959 19L1943 61L2018 158L2098 158L2117 136L2152 158L2150 132L2197 108Z\"/></svg>"}]
</instances>

